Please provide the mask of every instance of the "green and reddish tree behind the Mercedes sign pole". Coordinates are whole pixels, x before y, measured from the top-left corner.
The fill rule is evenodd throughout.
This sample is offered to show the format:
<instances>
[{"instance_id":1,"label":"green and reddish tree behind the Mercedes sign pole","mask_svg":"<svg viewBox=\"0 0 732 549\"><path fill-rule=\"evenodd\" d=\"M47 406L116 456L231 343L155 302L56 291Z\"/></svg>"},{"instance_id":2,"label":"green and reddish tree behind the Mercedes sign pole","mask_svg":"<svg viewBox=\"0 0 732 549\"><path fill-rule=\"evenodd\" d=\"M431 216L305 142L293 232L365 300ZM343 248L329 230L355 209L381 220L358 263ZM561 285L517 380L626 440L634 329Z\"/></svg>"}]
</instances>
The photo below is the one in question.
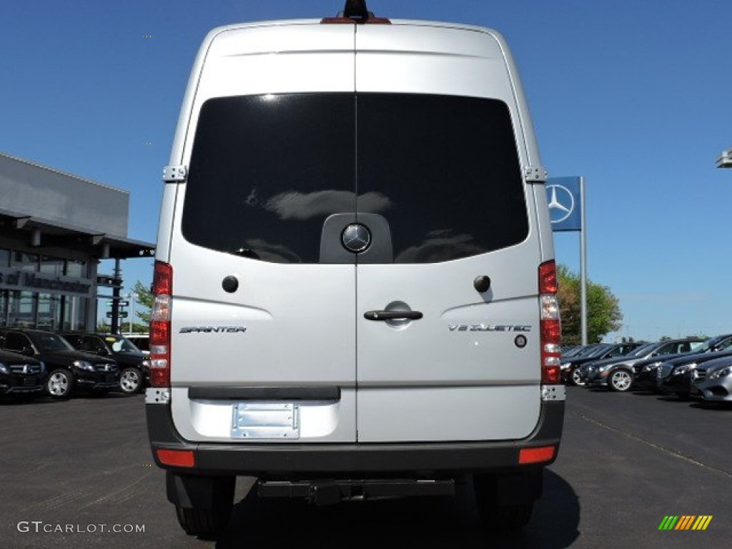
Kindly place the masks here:
<instances>
[{"instance_id":1,"label":"green and reddish tree behind the Mercedes sign pole","mask_svg":"<svg viewBox=\"0 0 732 549\"><path fill-rule=\"evenodd\" d=\"M582 307L580 276L567 266L557 266L561 338L565 345L582 343ZM609 332L621 327L623 318L616 296L607 286L587 280L587 343L600 343Z\"/></svg>"}]
</instances>

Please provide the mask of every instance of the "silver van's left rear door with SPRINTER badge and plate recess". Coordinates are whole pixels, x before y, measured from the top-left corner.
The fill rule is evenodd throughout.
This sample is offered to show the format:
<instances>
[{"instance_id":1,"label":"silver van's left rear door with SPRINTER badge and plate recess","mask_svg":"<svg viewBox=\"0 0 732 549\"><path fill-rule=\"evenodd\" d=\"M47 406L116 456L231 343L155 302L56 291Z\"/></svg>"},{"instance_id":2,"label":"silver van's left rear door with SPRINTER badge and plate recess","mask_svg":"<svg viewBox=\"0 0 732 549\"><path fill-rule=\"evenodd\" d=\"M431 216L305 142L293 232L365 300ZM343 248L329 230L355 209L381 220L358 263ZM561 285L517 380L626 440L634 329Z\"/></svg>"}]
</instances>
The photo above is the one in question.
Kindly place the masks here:
<instances>
[{"instance_id":1,"label":"silver van's left rear door with SPRINTER badge and plate recess","mask_svg":"<svg viewBox=\"0 0 732 549\"><path fill-rule=\"evenodd\" d=\"M171 159L187 182L166 195L171 405L188 440L356 439L355 264L321 261L340 248L326 220L355 219L353 48L352 26L319 23L226 29L201 48ZM232 401L302 406L289 432L264 408L246 430Z\"/></svg>"}]
</instances>

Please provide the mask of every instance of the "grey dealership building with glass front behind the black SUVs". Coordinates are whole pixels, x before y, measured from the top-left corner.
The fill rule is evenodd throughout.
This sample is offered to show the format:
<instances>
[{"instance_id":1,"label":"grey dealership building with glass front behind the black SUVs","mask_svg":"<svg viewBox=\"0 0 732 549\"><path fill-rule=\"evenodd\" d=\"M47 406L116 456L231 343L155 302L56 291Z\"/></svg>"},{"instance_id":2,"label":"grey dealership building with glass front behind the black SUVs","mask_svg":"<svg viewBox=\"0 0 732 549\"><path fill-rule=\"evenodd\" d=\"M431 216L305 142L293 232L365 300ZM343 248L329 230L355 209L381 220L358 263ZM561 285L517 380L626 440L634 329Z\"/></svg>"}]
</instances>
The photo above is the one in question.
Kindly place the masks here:
<instances>
[{"instance_id":1,"label":"grey dealership building with glass front behind the black SUVs","mask_svg":"<svg viewBox=\"0 0 732 549\"><path fill-rule=\"evenodd\" d=\"M0 153L0 326L95 329L97 288L121 284L100 261L154 255L127 238L129 205L127 191Z\"/></svg>"}]
</instances>

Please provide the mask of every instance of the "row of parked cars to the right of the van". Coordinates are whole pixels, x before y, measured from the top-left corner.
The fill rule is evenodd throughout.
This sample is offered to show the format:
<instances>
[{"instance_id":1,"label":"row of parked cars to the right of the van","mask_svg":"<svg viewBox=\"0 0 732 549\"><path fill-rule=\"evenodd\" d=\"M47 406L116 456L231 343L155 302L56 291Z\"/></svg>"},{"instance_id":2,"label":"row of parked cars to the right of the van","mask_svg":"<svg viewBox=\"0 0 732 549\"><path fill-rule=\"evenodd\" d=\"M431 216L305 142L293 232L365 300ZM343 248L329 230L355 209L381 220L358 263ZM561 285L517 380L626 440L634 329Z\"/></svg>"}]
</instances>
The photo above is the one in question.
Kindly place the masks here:
<instances>
[{"instance_id":1,"label":"row of parked cars to the right of the van","mask_svg":"<svg viewBox=\"0 0 732 549\"><path fill-rule=\"evenodd\" d=\"M569 348L566 384L732 402L732 334Z\"/></svg>"}]
</instances>

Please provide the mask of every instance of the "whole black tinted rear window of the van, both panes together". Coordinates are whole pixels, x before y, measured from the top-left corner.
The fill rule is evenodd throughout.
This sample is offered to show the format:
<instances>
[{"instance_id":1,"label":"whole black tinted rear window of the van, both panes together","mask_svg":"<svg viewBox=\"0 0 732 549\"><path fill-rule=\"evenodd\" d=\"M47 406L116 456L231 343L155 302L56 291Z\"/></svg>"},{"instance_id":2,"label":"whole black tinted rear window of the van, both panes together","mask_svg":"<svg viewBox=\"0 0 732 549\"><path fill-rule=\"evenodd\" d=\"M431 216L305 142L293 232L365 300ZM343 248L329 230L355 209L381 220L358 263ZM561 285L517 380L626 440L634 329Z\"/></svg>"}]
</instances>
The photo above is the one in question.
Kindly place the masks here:
<instances>
[{"instance_id":1,"label":"whole black tinted rear window of the van, both panes together","mask_svg":"<svg viewBox=\"0 0 732 549\"><path fill-rule=\"evenodd\" d=\"M529 233L507 105L420 94L207 101L182 217L194 244L318 263L331 214L379 214L395 263L518 244Z\"/></svg>"}]
</instances>

